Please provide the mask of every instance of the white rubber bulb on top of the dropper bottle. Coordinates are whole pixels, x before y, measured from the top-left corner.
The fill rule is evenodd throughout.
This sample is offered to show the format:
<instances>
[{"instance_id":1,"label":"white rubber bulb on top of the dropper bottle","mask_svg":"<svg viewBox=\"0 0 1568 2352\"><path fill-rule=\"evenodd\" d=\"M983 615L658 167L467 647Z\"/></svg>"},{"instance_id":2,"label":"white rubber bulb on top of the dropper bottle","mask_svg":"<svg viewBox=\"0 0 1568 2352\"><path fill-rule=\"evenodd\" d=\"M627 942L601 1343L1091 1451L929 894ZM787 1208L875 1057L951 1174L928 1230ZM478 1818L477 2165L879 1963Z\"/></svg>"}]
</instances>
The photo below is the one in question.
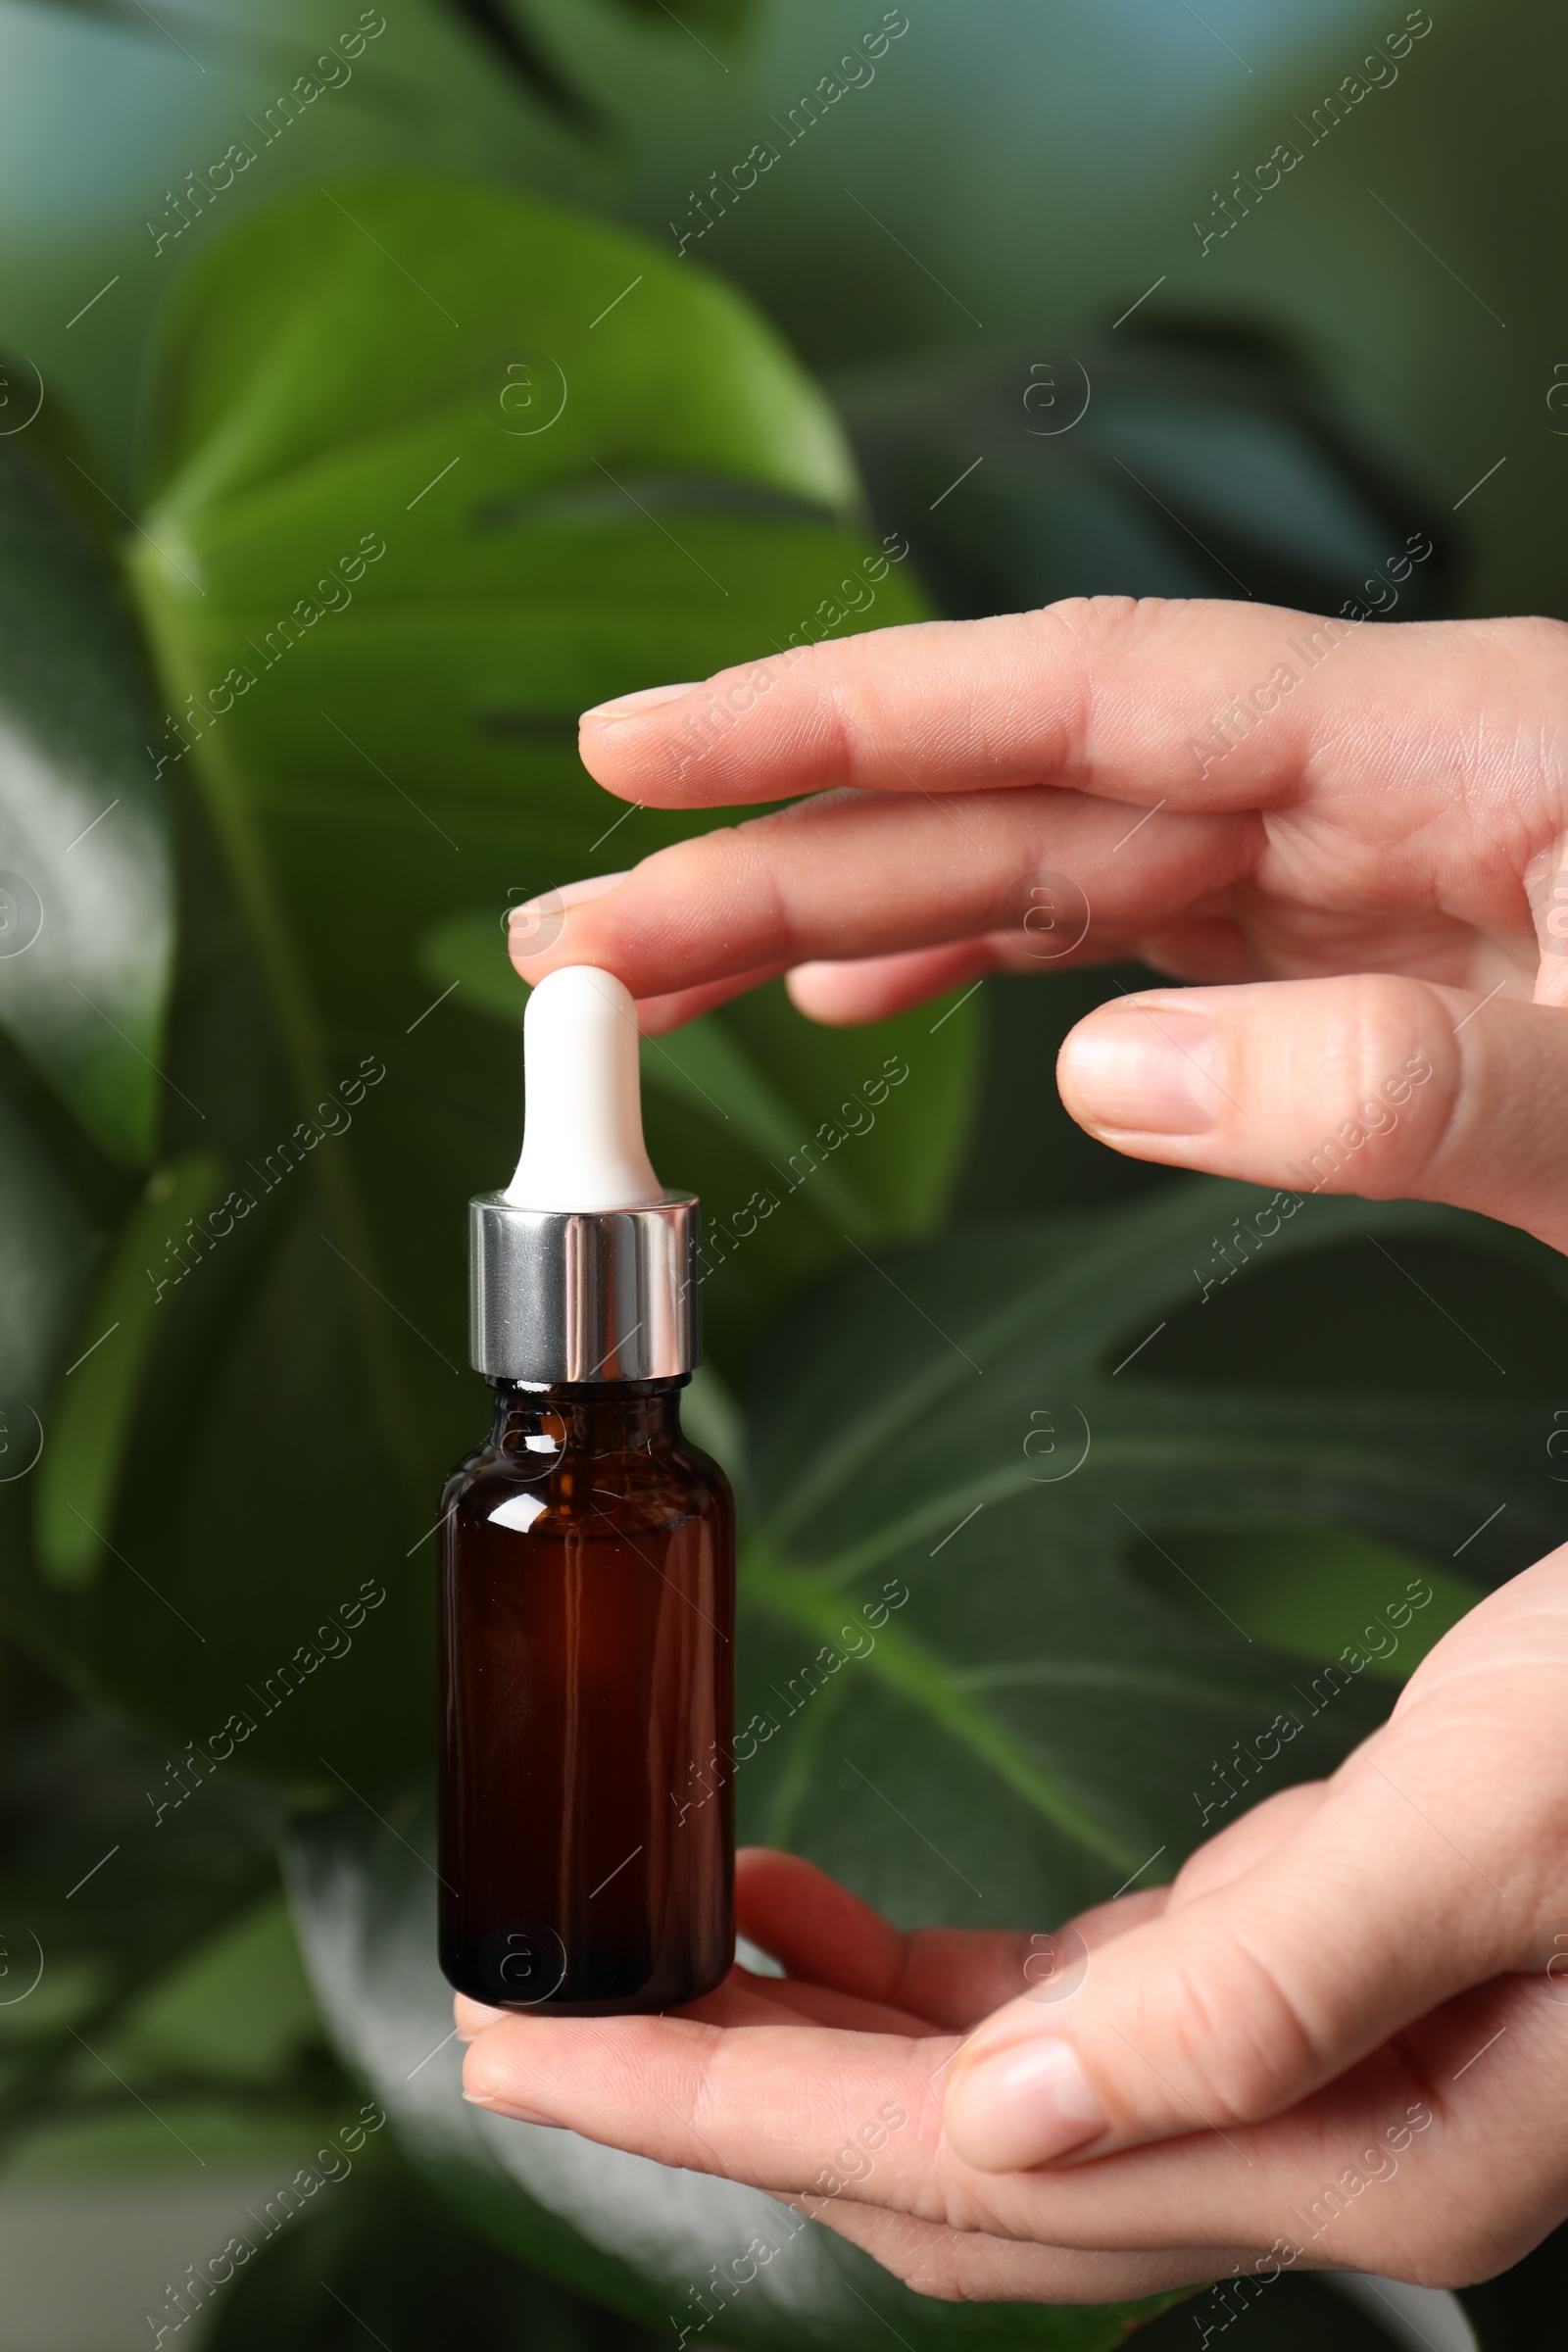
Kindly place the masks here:
<instances>
[{"instance_id":1,"label":"white rubber bulb on top of the dropper bottle","mask_svg":"<svg viewBox=\"0 0 1568 2352\"><path fill-rule=\"evenodd\" d=\"M642 1141L637 1007L614 971L564 964L522 1018L522 1160L512 1209L642 1209L663 1185Z\"/></svg>"}]
</instances>

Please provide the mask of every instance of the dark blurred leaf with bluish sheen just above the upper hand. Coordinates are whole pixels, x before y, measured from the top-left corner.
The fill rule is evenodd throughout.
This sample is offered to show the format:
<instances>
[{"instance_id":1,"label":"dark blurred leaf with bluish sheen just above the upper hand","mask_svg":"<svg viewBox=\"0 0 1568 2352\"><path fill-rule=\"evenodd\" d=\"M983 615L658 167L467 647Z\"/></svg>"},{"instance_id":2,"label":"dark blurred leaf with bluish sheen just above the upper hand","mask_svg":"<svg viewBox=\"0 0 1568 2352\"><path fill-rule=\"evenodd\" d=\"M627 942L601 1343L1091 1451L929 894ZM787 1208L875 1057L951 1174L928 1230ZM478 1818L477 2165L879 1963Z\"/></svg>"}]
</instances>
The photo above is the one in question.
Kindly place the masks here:
<instances>
[{"instance_id":1,"label":"dark blurred leaf with bluish sheen just above the upper hand","mask_svg":"<svg viewBox=\"0 0 1568 2352\"><path fill-rule=\"evenodd\" d=\"M945 612L1065 595L1248 595L1401 621L1446 609L1453 529L1399 449L1349 430L1309 348L1171 308L1131 318L1114 343L1074 343L844 388L872 503L917 517ZM985 470L943 499L976 449Z\"/></svg>"}]
</instances>

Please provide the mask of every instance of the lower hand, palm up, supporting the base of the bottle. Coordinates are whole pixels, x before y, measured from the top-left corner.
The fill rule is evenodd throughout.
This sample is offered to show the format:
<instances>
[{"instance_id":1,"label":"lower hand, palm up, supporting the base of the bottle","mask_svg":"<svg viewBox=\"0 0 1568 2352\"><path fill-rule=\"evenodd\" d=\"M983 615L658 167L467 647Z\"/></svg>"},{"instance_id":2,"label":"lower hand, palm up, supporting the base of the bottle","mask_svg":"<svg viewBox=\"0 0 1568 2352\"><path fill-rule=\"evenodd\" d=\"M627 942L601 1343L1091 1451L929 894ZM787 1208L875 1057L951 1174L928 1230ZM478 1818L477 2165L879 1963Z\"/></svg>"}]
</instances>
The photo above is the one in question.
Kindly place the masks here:
<instances>
[{"instance_id":1,"label":"lower hand, palm up, supporting the base of the bottle","mask_svg":"<svg viewBox=\"0 0 1568 2352\"><path fill-rule=\"evenodd\" d=\"M1074 1922L1086 1969L898 1936L752 1849L738 1919L783 1980L736 1966L677 2018L458 1997L465 2096L771 2190L922 2293L1490 2277L1568 2211L1566 1679L1568 1550L1446 1635L1333 1780Z\"/></svg>"}]
</instances>

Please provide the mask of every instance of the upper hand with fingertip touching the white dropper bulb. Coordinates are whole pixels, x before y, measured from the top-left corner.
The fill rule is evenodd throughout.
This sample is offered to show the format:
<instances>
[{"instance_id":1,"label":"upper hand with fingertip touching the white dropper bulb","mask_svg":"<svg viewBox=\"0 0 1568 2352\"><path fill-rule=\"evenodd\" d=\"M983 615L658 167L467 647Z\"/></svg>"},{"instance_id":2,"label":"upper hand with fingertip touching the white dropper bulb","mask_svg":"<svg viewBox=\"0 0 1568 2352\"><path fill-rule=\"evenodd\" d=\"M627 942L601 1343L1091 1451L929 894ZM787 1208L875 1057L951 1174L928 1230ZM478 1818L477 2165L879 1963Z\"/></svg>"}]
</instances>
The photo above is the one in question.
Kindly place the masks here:
<instances>
[{"instance_id":1,"label":"upper hand with fingertip touching the white dropper bulb","mask_svg":"<svg viewBox=\"0 0 1568 2352\"><path fill-rule=\"evenodd\" d=\"M933 621L609 703L583 757L656 807L813 797L520 908L527 981L604 964L670 1028L788 971L804 1011L870 1021L1135 955L1220 985L1079 1023L1058 1077L1093 1134L1568 1247L1556 621Z\"/></svg>"}]
</instances>

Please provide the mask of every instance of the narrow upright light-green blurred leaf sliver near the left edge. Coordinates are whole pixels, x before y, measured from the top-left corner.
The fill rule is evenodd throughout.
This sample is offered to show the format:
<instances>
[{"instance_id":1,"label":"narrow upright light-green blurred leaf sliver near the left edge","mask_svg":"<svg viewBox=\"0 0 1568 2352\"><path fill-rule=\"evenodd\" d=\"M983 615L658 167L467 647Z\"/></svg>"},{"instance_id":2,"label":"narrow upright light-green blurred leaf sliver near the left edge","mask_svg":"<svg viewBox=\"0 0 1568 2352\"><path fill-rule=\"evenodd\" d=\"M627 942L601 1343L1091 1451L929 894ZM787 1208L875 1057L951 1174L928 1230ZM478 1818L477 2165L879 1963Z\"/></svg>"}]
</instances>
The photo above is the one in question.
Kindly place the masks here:
<instances>
[{"instance_id":1,"label":"narrow upright light-green blurred leaf sliver near the left edge","mask_svg":"<svg viewBox=\"0 0 1568 2352\"><path fill-rule=\"evenodd\" d=\"M82 1357L61 1381L49 1454L35 1482L38 1559L59 1585L85 1583L103 1552L155 1312L162 1289L183 1279L169 1261L167 1237L183 1237L181 1228L212 1209L221 1183L207 1152L160 1169L87 1303L78 1327Z\"/></svg>"}]
</instances>

